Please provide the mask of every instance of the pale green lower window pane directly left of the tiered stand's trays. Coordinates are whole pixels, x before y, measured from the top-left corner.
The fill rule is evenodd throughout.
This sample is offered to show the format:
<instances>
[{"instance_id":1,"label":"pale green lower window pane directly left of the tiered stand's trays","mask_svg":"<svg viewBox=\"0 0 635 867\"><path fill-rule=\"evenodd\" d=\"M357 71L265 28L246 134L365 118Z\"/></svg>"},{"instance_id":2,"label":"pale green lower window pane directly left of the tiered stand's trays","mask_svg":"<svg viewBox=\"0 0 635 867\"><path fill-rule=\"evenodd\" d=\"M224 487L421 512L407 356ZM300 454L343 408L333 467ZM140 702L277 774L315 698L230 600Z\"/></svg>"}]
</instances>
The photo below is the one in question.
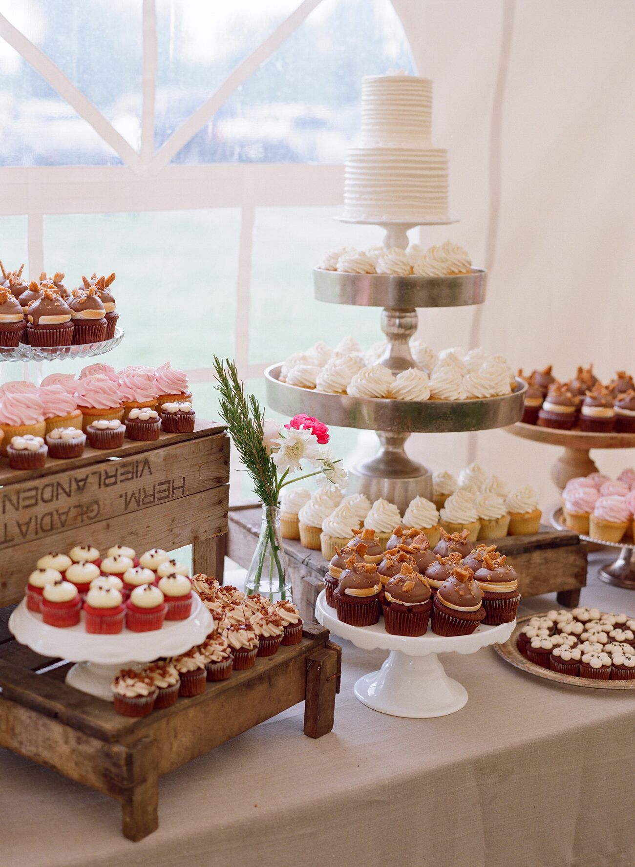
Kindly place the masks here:
<instances>
[{"instance_id":1,"label":"pale green lower window pane directly left of the tiered stand's trays","mask_svg":"<svg viewBox=\"0 0 635 867\"><path fill-rule=\"evenodd\" d=\"M381 244L378 226L341 225L331 208L258 208L253 235L249 362L281 361L346 335L363 347L383 340L381 310L324 304L313 297L313 268L327 250Z\"/></svg>"}]
</instances>

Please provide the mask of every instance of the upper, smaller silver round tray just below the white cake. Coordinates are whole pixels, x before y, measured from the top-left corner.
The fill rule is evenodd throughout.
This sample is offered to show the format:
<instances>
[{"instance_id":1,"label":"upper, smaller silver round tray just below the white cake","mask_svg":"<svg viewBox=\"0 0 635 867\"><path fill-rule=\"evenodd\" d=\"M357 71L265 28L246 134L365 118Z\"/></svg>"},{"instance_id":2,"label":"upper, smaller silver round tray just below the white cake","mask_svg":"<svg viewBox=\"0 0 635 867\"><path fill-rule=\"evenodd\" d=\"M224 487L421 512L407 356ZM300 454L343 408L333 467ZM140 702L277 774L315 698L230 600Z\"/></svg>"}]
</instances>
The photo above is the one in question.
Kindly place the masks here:
<instances>
[{"instance_id":1,"label":"upper, smaller silver round tray just below the white cake","mask_svg":"<svg viewBox=\"0 0 635 867\"><path fill-rule=\"evenodd\" d=\"M481 304L485 301L487 281L487 271L476 268L469 274L451 277L396 277L390 274L346 274L322 268L313 270L313 287L318 301L393 310Z\"/></svg>"}]
</instances>

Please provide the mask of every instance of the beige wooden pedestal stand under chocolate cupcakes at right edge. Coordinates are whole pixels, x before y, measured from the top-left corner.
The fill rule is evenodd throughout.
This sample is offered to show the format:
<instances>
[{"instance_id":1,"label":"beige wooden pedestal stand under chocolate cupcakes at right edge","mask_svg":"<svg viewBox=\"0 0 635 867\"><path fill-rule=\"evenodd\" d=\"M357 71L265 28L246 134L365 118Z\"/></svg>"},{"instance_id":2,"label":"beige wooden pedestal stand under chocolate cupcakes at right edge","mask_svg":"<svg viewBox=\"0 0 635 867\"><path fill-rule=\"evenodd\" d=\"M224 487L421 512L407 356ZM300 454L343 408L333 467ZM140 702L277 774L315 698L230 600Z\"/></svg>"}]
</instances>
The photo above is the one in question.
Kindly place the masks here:
<instances>
[{"instance_id":1,"label":"beige wooden pedestal stand under chocolate cupcakes at right edge","mask_svg":"<svg viewBox=\"0 0 635 867\"><path fill-rule=\"evenodd\" d=\"M588 476L597 473L598 467L593 463L589 452L593 448L635 448L635 433L586 433L571 430L558 431L551 427L527 425L519 421L505 428L507 433L520 436L523 440L546 442L550 446L564 448L560 458L551 468L553 484L564 488L569 479L578 476Z\"/></svg>"}]
</instances>

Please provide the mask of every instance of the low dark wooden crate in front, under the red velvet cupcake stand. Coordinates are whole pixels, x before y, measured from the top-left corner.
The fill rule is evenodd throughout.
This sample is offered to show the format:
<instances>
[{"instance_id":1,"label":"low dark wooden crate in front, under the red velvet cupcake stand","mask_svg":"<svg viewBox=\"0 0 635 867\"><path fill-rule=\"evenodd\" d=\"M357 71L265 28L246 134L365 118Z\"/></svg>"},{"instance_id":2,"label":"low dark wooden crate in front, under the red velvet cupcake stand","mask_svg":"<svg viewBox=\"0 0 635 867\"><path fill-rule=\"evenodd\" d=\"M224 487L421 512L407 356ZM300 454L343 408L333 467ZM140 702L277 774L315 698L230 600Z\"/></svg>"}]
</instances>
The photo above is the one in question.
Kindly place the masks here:
<instances>
[{"instance_id":1,"label":"low dark wooden crate in front, under the red velvet cupcake stand","mask_svg":"<svg viewBox=\"0 0 635 867\"><path fill-rule=\"evenodd\" d=\"M131 840L159 825L162 774L299 701L306 735L319 738L333 726L341 651L317 624L305 624L295 647L133 720L67 686L68 663L51 668L55 661L14 641L9 614L0 610L0 746L120 801L122 831Z\"/></svg>"}]
</instances>

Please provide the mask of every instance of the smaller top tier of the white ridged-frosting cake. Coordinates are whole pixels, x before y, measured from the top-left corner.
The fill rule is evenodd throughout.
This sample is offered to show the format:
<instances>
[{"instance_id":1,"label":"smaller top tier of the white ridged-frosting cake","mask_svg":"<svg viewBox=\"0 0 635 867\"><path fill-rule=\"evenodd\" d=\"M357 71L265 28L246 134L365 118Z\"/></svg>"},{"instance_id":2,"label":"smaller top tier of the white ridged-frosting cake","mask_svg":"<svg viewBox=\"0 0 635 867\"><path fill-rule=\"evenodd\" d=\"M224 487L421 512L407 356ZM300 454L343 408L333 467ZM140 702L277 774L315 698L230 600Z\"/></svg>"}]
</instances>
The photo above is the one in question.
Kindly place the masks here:
<instances>
[{"instance_id":1,"label":"smaller top tier of the white ridged-frosting cake","mask_svg":"<svg viewBox=\"0 0 635 867\"><path fill-rule=\"evenodd\" d=\"M362 147L429 147L432 81L369 75L362 82Z\"/></svg>"}]
</instances>

